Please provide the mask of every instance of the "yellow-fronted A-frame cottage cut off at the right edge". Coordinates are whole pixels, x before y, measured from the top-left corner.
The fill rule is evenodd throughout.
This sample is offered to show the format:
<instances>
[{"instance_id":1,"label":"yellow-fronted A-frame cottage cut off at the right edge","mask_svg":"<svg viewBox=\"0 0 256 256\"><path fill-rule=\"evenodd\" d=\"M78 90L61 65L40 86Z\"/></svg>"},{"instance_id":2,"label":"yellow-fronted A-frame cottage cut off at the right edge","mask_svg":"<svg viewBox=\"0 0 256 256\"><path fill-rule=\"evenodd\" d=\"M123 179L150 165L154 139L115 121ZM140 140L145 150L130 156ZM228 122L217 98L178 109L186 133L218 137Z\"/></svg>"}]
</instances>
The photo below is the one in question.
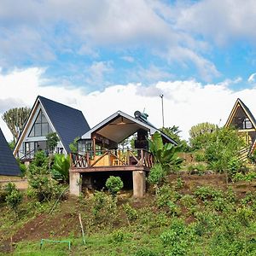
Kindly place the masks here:
<instances>
[{"instance_id":1,"label":"yellow-fronted A-frame cottage cut off at the right edge","mask_svg":"<svg viewBox=\"0 0 256 256\"><path fill-rule=\"evenodd\" d=\"M256 148L256 120L250 109L237 99L225 127L235 127L239 134L244 137L247 144L247 152L252 153Z\"/></svg>"}]
</instances>

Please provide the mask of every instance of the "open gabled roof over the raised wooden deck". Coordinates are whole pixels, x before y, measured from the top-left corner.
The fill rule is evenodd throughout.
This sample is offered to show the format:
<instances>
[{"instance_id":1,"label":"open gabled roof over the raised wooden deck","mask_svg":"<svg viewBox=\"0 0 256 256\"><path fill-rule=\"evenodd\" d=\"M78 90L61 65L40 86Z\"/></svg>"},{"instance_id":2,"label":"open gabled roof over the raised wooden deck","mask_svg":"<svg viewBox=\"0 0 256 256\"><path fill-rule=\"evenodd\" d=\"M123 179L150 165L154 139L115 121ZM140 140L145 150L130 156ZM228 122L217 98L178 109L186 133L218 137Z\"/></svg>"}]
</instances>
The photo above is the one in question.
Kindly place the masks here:
<instances>
[{"instance_id":1,"label":"open gabled roof over the raised wooden deck","mask_svg":"<svg viewBox=\"0 0 256 256\"><path fill-rule=\"evenodd\" d=\"M123 122L125 125L119 125L119 122ZM158 131L169 143L177 145L172 138L166 136L165 133L155 128L154 125L151 125L148 121L131 117L131 115L122 111L113 113L107 119L104 119L101 123L90 129L90 131L84 133L81 138L90 139L91 134L97 131L103 137L107 137L113 142L120 143L125 138L130 137L140 128L148 130L150 134L154 134L155 131Z\"/></svg>"}]
</instances>

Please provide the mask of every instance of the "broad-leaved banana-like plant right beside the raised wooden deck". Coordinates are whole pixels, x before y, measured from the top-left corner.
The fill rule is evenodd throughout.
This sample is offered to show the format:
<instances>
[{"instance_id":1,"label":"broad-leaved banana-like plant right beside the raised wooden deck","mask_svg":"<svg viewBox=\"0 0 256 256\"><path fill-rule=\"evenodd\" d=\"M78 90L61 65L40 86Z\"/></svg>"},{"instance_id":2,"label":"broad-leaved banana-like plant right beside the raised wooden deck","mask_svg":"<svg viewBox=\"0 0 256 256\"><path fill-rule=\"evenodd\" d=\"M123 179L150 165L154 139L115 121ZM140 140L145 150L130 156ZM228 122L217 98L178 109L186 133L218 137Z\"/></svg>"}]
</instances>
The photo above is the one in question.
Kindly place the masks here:
<instances>
[{"instance_id":1,"label":"broad-leaved banana-like plant right beside the raised wooden deck","mask_svg":"<svg viewBox=\"0 0 256 256\"><path fill-rule=\"evenodd\" d=\"M177 156L180 147L175 147L172 143L164 145L159 132L155 132L152 140L149 140L148 143L149 150L154 155L155 163L160 164L163 168L177 169L183 162L183 159Z\"/></svg>"}]
</instances>

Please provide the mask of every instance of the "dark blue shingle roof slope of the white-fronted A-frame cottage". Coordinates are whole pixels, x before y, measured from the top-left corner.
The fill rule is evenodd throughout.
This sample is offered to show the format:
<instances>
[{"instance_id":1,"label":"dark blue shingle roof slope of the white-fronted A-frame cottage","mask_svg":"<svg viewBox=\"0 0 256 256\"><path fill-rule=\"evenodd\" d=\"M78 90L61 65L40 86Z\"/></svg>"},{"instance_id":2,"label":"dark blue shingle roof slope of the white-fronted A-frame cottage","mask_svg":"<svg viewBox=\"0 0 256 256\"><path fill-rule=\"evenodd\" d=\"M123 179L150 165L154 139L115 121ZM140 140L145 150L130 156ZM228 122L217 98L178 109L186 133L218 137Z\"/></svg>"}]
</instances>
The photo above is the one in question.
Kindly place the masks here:
<instances>
[{"instance_id":1,"label":"dark blue shingle roof slope of the white-fronted A-frame cottage","mask_svg":"<svg viewBox=\"0 0 256 256\"><path fill-rule=\"evenodd\" d=\"M84 114L75 108L70 108L59 102L54 102L43 96L38 96L50 121L55 127L55 131L63 143L67 152L70 152L69 144L75 137L81 137L90 130Z\"/></svg>"}]
</instances>

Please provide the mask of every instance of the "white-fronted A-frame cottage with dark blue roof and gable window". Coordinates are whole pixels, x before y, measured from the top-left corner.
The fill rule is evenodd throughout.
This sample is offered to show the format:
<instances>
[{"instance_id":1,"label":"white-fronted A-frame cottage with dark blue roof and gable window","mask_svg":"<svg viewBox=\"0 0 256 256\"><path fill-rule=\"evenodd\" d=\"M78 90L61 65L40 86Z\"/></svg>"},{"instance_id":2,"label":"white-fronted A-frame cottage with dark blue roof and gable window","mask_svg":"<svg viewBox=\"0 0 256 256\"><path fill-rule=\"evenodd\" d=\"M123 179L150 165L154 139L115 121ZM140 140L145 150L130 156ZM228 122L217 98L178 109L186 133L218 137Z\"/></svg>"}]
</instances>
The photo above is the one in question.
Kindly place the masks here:
<instances>
[{"instance_id":1,"label":"white-fronted A-frame cottage with dark blue roof and gable window","mask_svg":"<svg viewBox=\"0 0 256 256\"><path fill-rule=\"evenodd\" d=\"M80 110L38 96L15 145L14 155L29 162L38 150L47 151L46 136L50 132L56 132L60 139L55 153L69 154L69 144L89 130Z\"/></svg>"}]
</instances>

